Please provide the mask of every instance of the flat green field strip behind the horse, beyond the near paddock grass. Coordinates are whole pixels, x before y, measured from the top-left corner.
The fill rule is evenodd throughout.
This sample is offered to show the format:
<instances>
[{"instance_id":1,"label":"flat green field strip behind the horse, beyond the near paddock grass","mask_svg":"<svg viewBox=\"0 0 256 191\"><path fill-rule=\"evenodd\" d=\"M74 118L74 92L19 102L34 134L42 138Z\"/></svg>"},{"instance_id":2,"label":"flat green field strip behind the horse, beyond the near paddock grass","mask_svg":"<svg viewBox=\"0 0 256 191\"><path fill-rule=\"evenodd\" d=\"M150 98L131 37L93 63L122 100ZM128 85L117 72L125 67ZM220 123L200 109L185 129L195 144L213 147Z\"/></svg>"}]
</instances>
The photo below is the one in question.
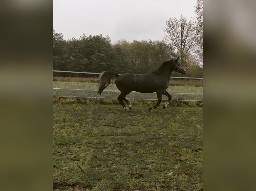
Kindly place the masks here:
<instances>
[{"instance_id":1,"label":"flat green field strip behind the horse, beyond the near paddock grass","mask_svg":"<svg viewBox=\"0 0 256 191\"><path fill-rule=\"evenodd\" d=\"M54 81L53 88L77 89L77 90L54 90L53 94L57 96L78 96L95 97L97 94L98 83L93 82L63 82ZM95 91L91 91L95 90ZM116 91L116 92L113 92ZM167 91L172 95L173 100L203 100L202 86L169 86ZM185 94L189 93L189 94ZM110 84L102 93L101 97L117 98L120 92L115 84ZM128 99L157 99L156 93L137 93L132 92L127 95ZM163 100L167 99L163 95Z\"/></svg>"}]
</instances>

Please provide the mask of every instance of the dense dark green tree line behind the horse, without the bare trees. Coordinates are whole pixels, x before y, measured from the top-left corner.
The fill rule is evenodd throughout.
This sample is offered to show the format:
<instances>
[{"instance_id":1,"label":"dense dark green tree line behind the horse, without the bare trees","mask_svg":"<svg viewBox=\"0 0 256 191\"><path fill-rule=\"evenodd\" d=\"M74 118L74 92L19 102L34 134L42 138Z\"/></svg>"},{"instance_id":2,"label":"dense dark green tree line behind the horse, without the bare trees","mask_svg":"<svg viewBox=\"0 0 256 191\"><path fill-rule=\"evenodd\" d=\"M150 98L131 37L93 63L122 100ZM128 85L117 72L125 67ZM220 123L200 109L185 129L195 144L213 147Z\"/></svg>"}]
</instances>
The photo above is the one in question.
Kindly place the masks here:
<instances>
[{"instance_id":1,"label":"dense dark green tree line behind the horse, without the bare trees","mask_svg":"<svg viewBox=\"0 0 256 191\"><path fill-rule=\"evenodd\" d=\"M162 41L127 42L119 40L111 44L110 38L100 35L64 40L61 33L53 30L53 70L95 72L111 70L117 73L150 73L165 60L178 55L170 44ZM191 62L184 62L191 72L187 76L201 77L203 69ZM173 73L173 76L175 74ZM179 74L176 74L179 76ZM54 76L85 76L76 73L54 73Z\"/></svg>"}]
</instances>

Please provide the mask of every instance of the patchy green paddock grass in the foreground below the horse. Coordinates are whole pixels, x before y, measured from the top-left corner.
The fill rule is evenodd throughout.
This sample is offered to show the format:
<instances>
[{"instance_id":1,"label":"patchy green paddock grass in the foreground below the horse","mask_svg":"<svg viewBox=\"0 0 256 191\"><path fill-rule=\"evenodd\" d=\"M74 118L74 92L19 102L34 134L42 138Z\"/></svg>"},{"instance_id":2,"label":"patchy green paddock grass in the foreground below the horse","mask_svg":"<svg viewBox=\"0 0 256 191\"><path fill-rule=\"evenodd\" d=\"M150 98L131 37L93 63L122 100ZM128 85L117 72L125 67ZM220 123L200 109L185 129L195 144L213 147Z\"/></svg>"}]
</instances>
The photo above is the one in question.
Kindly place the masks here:
<instances>
[{"instance_id":1,"label":"patchy green paddock grass in the foreground below the horse","mask_svg":"<svg viewBox=\"0 0 256 191\"><path fill-rule=\"evenodd\" d=\"M55 190L203 189L202 107L103 103L54 102Z\"/></svg>"}]
</instances>

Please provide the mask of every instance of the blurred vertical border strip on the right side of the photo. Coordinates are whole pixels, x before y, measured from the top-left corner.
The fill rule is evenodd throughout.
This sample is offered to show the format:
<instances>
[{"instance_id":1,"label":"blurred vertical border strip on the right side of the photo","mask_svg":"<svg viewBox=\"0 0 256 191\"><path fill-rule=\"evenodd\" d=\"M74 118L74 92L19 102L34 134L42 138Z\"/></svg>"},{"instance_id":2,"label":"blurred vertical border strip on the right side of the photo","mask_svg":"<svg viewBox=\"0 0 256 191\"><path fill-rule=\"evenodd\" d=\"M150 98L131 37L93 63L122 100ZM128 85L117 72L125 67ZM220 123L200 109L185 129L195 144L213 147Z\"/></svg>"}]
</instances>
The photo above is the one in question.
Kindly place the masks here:
<instances>
[{"instance_id":1,"label":"blurred vertical border strip on the right side of the photo","mask_svg":"<svg viewBox=\"0 0 256 191\"><path fill-rule=\"evenodd\" d=\"M204 189L254 190L256 2L204 1Z\"/></svg>"}]
</instances>

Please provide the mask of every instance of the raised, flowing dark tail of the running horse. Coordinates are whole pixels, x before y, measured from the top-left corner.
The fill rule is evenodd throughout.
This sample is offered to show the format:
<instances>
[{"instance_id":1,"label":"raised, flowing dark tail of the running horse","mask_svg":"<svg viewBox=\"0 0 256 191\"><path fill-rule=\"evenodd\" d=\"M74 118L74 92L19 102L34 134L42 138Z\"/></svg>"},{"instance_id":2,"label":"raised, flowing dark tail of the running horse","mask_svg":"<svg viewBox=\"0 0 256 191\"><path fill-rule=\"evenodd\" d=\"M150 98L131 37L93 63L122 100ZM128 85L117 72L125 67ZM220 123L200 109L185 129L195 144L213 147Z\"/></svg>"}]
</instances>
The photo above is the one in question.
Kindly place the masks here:
<instances>
[{"instance_id":1,"label":"raised, flowing dark tail of the running horse","mask_svg":"<svg viewBox=\"0 0 256 191\"><path fill-rule=\"evenodd\" d=\"M110 81L117 78L119 74L111 71L104 71L100 74L99 79L100 79L100 84L99 84L99 90L96 95L101 95L102 91L110 84Z\"/></svg>"}]
</instances>

